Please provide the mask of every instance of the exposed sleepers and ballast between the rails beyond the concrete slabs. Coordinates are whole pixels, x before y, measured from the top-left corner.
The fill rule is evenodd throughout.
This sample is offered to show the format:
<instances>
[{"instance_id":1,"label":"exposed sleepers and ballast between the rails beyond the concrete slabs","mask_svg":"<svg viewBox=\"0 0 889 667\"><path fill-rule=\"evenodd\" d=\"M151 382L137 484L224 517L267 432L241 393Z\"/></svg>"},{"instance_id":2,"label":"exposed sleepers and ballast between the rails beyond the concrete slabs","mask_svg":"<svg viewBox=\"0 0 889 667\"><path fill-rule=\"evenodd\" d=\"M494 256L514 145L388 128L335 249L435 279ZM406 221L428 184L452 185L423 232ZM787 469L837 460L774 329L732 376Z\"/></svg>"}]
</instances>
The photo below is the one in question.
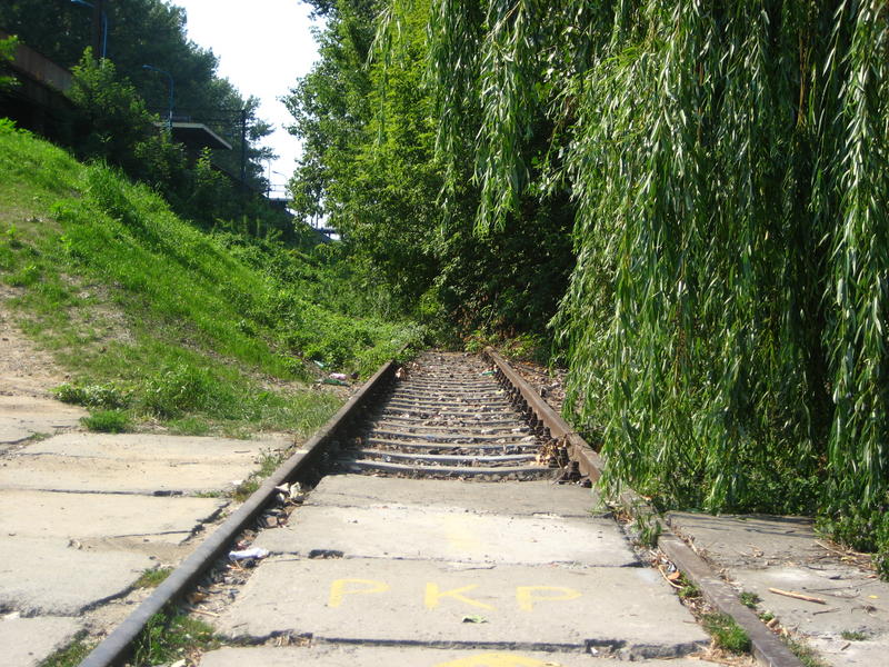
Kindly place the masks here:
<instances>
[{"instance_id":1,"label":"exposed sleepers and ballast between the rails beyond the concrete slabs","mask_svg":"<svg viewBox=\"0 0 889 667\"><path fill-rule=\"evenodd\" d=\"M556 472L491 366L475 356L422 355L357 440L340 459L350 472L479 480Z\"/></svg>"}]
</instances>

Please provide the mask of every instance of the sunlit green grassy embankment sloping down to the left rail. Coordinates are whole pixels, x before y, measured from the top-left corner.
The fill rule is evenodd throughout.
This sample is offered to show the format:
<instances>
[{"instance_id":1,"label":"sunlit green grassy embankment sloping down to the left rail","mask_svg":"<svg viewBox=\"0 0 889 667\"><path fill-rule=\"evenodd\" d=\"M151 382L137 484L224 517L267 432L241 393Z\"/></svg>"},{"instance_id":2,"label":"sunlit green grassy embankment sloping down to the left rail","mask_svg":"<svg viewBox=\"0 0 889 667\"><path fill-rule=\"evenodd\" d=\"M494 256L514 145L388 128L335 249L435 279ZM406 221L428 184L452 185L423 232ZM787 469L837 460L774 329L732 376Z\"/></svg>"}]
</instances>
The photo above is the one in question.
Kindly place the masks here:
<instances>
[{"instance_id":1,"label":"sunlit green grassy embankment sloping down to the left rail","mask_svg":"<svg viewBox=\"0 0 889 667\"><path fill-rule=\"evenodd\" d=\"M4 308L96 428L312 430L340 402L309 386L314 361L367 375L420 337L363 317L346 272L329 247L202 232L148 187L0 119Z\"/></svg>"}]
</instances>

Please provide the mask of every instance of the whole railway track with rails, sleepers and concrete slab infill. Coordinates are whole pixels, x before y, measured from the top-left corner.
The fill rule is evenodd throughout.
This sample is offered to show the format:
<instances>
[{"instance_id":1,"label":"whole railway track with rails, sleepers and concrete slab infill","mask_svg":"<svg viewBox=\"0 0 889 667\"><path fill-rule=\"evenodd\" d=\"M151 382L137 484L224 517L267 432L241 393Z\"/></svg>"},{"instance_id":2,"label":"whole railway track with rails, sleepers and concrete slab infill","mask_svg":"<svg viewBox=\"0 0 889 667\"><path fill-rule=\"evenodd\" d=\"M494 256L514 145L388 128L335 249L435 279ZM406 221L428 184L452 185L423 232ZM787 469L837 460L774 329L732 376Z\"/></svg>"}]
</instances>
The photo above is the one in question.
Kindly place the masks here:
<instances>
[{"instance_id":1,"label":"whole railway track with rails, sleepers and concrete slab infill","mask_svg":"<svg viewBox=\"0 0 889 667\"><path fill-rule=\"evenodd\" d=\"M387 365L81 667L123 664L196 585L191 609L231 643L201 667L707 665L682 659L709 638L595 492L556 484L566 450L593 475L596 455L496 356ZM314 487L298 505L294 480ZM253 534L270 506L287 520ZM228 565L246 529L268 557Z\"/></svg>"}]
</instances>

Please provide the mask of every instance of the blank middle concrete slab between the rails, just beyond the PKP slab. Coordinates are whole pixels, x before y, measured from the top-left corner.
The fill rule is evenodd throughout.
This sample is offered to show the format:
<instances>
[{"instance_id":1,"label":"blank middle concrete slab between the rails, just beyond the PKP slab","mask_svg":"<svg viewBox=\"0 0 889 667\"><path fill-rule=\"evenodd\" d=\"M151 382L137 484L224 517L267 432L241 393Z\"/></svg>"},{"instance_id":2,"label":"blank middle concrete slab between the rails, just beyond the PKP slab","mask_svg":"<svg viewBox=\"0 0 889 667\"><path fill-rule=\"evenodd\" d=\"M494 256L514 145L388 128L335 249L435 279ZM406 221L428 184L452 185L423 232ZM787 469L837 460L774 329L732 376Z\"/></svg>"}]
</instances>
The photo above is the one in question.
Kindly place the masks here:
<instances>
[{"instance_id":1,"label":"blank middle concrete slab between the rails, just beyond the PKP slab","mask_svg":"<svg viewBox=\"0 0 889 667\"><path fill-rule=\"evenodd\" d=\"M438 506L302 507L287 527L263 530L254 546L302 556L327 550L350 558L639 565L611 519L479 515Z\"/></svg>"}]
</instances>

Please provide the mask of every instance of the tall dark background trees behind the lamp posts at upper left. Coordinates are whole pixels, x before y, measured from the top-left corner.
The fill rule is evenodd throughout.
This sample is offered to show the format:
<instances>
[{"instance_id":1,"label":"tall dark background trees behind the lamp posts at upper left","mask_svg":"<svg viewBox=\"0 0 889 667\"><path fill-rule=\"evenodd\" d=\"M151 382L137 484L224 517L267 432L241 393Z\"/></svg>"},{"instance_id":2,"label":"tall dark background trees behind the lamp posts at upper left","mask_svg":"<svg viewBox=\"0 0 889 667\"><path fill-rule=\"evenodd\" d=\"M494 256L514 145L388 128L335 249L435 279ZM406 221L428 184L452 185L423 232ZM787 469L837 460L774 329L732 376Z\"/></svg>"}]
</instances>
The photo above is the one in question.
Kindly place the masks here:
<instances>
[{"instance_id":1,"label":"tall dark background trees behind the lamp posts at upper left","mask_svg":"<svg viewBox=\"0 0 889 667\"><path fill-rule=\"evenodd\" d=\"M263 191L262 160L271 151L260 148L258 142L270 132L270 126L256 118L259 100L243 98L231 82L219 77L216 56L188 38L184 9L166 0L114 0L103 6L103 10L108 18L108 40L102 64L112 64L117 80L144 100L142 104L151 113L164 119L170 111L169 80L157 70L174 72L173 116L207 123L227 139L233 150L217 151L213 160L236 178L240 178L242 168L241 113L244 113L244 176L250 188ZM91 20L88 8L70 1L0 3L3 30L68 69L78 63L82 69L83 51L92 43ZM98 57L101 52L91 54ZM156 69L147 69L144 64ZM126 127L119 129L130 131ZM63 135L63 130L57 128L56 133ZM151 157L146 155L149 160Z\"/></svg>"}]
</instances>

